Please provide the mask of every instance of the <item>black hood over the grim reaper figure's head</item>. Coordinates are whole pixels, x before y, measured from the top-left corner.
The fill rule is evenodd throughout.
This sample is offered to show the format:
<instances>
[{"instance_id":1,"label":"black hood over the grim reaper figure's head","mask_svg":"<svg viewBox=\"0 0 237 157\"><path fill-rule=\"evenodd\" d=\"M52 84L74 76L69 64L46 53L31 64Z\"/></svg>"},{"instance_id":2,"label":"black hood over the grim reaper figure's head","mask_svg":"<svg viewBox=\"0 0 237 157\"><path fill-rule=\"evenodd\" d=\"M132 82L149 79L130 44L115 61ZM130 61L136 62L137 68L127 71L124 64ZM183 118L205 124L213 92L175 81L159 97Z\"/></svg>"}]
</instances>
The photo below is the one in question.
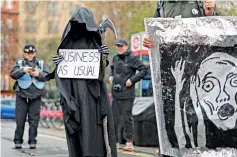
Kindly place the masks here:
<instances>
[{"instance_id":1,"label":"black hood over the grim reaper figure's head","mask_svg":"<svg viewBox=\"0 0 237 157\"><path fill-rule=\"evenodd\" d=\"M69 20L66 28L64 29L61 41L67 37L69 32L75 35L83 34L87 31L97 34L99 33L99 26L95 23L95 18L91 11L87 8L80 7L74 12ZM100 37L99 34L98 36Z\"/></svg>"}]
</instances>

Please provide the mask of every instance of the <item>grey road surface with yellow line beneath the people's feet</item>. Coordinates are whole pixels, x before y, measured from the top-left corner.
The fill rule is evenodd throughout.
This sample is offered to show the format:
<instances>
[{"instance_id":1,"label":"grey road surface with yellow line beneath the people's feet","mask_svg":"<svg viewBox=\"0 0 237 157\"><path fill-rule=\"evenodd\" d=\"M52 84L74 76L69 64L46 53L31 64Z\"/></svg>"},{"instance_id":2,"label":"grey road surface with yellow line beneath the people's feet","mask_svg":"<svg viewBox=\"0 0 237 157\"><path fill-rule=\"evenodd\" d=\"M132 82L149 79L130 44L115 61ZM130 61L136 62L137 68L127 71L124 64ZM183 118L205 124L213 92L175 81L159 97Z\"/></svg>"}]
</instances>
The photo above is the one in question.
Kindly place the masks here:
<instances>
[{"instance_id":1,"label":"grey road surface with yellow line beneath the people's feet","mask_svg":"<svg viewBox=\"0 0 237 157\"><path fill-rule=\"evenodd\" d=\"M1 120L1 157L69 157L64 130L39 127L37 149L31 150L27 144L29 126L26 123L23 148L16 150L13 143L15 127L14 120ZM157 151L153 147L135 146L134 152L125 152L123 147L121 144L118 157L154 157Z\"/></svg>"}]
</instances>

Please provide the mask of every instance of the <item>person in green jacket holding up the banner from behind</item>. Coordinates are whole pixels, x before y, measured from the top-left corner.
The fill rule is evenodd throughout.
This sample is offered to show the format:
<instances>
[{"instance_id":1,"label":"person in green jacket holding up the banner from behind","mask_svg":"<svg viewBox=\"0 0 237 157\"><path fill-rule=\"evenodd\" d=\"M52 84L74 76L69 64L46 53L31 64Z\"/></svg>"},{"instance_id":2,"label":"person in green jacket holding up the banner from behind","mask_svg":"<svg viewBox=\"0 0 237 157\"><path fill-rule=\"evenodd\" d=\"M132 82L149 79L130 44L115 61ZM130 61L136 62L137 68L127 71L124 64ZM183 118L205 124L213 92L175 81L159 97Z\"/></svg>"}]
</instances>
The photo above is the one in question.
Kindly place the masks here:
<instances>
[{"instance_id":1,"label":"person in green jacket holding up the banner from behind","mask_svg":"<svg viewBox=\"0 0 237 157\"><path fill-rule=\"evenodd\" d=\"M157 4L158 7L155 10L154 17L189 18L218 15L216 4L213 0L159 0ZM143 45L147 48L151 48L151 39L149 37L145 38Z\"/></svg>"}]
</instances>

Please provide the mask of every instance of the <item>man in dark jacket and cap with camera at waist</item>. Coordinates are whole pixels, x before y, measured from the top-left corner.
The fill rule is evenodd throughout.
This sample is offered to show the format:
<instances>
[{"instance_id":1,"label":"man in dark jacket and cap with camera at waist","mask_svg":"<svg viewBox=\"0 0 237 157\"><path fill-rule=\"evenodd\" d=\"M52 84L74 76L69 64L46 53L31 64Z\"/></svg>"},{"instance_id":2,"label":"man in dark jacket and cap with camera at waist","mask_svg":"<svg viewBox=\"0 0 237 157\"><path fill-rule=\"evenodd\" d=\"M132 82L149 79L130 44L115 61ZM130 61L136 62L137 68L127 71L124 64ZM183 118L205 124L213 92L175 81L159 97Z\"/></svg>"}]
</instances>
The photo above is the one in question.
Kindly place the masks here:
<instances>
[{"instance_id":1,"label":"man in dark jacket and cap with camera at waist","mask_svg":"<svg viewBox=\"0 0 237 157\"><path fill-rule=\"evenodd\" d=\"M147 75L147 68L138 57L132 54L126 40L118 40L116 46L118 54L113 57L109 81L112 84L112 110L117 147L119 147L121 128L124 126L127 143L123 150L133 151L132 107L135 99L135 83ZM136 73L136 71L139 72Z\"/></svg>"}]
</instances>

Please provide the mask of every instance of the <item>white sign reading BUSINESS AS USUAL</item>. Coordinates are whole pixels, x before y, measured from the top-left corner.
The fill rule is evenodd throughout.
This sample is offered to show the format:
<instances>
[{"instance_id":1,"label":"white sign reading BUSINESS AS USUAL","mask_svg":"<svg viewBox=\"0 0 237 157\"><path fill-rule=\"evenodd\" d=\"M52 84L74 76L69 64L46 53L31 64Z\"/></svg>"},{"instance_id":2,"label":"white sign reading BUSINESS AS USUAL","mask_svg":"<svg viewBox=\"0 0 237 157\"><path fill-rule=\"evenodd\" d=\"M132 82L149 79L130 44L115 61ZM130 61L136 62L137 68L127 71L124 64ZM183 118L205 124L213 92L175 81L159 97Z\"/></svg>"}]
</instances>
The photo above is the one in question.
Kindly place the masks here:
<instances>
[{"instance_id":1,"label":"white sign reading BUSINESS AS USUAL","mask_svg":"<svg viewBox=\"0 0 237 157\"><path fill-rule=\"evenodd\" d=\"M59 49L64 59L59 63L60 78L98 79L100 53L98 49Z\"/></svg>"}]
</instances>

